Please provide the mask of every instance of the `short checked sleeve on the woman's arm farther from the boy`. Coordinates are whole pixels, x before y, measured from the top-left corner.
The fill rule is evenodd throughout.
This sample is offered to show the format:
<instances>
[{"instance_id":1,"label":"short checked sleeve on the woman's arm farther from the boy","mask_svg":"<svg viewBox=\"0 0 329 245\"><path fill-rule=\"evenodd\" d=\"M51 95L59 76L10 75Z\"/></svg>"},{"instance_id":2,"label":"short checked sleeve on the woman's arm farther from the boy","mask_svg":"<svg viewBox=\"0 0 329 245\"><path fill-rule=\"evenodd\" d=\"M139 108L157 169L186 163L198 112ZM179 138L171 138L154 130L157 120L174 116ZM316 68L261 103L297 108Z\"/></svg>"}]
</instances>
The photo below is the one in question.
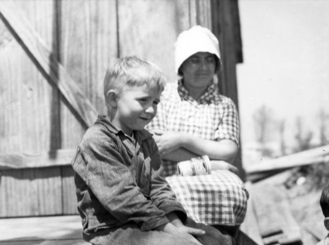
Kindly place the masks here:
<instances>
[{"instance_id":1,"label":"short checked sleeve on the woman's arm farther from the boy","mask_svg":"<svg viewBox=\"0 0 329 245\"><path fill-rule=\"evenodd\" d=\"M230 98L226 98L227 101L224 106L224 112L215 131L216 139L229 139L233 140L239 145L239 118L238 110Z\"/></svg>"}]
</instances>

